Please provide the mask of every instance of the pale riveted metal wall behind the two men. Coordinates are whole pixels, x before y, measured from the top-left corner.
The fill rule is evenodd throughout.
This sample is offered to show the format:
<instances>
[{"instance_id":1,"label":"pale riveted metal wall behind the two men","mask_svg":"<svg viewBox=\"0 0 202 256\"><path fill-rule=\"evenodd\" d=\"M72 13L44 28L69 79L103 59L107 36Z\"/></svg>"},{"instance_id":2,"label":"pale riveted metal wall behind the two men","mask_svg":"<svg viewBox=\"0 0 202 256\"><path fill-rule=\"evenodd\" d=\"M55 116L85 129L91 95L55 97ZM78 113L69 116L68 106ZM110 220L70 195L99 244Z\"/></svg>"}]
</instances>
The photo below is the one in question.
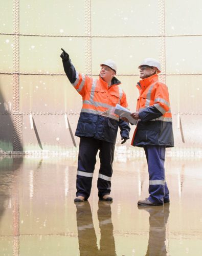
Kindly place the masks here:
<instances>
[{"instance_id":1,"label":"pale riveted metal wall behind the two men","mask_svg":"<svg viewBox=\"0 0 202 256\"><path fill-rule=\"evenodd\" d=\"M62 47L70 54L76 69L87 75L97 76L99 63L114 59L118 65L117 77L122 81L132 111L138 94L137 67L146 57L159 59L160 80L166 82L170 93L176 145L173 150L199 152L202 146L201 1L175 2L59 0L55 3L51 0L47 8L47 2L41 0L30 3L3 0L1 150L41 152L38 136L43 151L72 151L64 116L70 115L74 133L82 101L64 75L59 57ZM30 129L30 113L38 135ZM185 143L177 125L178 113ZM69 135L64 139L65 134ZM62 142L54 138L62 138ZM129 144L128 141L128 151L132 152Z\"/></svg>"}]
</instances>

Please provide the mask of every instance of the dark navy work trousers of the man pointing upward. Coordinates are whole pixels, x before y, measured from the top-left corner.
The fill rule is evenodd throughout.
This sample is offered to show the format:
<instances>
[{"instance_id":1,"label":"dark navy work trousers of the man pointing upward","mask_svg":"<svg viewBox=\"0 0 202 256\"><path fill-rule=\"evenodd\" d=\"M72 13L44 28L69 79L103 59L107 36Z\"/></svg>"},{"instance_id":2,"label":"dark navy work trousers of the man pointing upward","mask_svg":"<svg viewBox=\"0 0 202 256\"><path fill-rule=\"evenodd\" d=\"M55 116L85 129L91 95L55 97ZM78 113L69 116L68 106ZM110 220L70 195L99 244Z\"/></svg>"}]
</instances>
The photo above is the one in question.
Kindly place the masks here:
<instances>
[{"instance_id":1,"label":"dark navy work trousers of the man pointing upward","mask_svg":"<svg viewBox=\"0 0 202 256\"><path fill-rule=\"evenodd\" d=\"M93 173L96 164L96 155L99 152L100 169L98 175L98 196L102 198L111 191L111 176L113 173L113 161L115 144L94 138L80 138L76 196L85 199L91 194Z\"/></svg>"}]
</instances>

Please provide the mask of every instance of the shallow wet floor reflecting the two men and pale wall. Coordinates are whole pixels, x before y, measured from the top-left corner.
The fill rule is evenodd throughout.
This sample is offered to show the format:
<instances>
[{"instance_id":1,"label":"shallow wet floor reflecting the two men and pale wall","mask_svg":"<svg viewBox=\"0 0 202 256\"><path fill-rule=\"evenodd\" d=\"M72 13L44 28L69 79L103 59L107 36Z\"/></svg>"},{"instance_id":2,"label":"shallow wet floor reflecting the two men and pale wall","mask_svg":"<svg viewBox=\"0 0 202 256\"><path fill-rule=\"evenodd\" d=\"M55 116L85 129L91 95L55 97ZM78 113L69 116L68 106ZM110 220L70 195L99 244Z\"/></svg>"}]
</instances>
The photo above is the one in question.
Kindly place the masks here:
<instances>
[{"instance_id":1,"label":"shallow wet floor reflecting the two men and pale wall","mask_svg":"<svg viewBox=\"0 0 202 256\"><path fill-rule=\"evenodd\" d=\"M148 196L145 158L117 155L111 196L74 204L77 157L0 158L0 255L202 255L202 159L167 157L170 204Z\"/></svg>"}]
</instances>

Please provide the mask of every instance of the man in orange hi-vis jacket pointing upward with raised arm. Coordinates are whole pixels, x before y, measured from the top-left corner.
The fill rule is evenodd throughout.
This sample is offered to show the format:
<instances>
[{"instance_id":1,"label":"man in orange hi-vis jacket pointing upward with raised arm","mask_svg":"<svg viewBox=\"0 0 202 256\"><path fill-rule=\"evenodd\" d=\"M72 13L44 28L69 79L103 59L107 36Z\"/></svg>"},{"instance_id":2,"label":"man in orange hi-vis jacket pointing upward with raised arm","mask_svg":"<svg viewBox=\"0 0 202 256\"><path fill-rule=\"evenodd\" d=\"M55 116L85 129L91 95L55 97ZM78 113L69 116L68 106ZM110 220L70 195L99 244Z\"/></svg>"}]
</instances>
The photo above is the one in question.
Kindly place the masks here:
<instances>
[{"instance_id":1,"label":"man in orange hi-vis jacket pointing upward with raised arm","mask_svg":"<svg viewBox=\"0 0 202 256\"><path fill-rule=\"evenodd\" d=\"M75 202L87 200L91 194L91 186L96 155L99 152L100 169L98 176L98 196L101 200L112 201L111 176L118 127L121 130L122 143L129 139L130 127L118 116L103 116L103 112L116 106L117 103L127 107L126 95L118 85L117 67L113 60L100 64L99 79L80 74L74 68L69 54L62 49L60 57L68 79L82 96L83 106L78 120L76 136L80 137L77 193Z\"/></svg>"}]
</instances>

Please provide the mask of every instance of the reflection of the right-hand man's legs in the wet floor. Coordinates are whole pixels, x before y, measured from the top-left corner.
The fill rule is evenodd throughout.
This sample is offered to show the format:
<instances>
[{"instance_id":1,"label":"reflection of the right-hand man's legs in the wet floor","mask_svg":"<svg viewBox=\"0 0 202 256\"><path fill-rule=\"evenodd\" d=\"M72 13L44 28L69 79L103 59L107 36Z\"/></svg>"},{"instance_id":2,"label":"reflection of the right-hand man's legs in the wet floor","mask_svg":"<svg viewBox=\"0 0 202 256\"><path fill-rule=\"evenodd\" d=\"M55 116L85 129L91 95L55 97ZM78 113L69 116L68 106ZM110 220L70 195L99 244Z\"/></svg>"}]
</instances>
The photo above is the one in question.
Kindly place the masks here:
<instances>
[{"instance_id":1,"label":"reflection of the right-hand man's legs in the wet floor","mask_svg":"<svg viewBox=\"0 0 202 256\"><path fill-rule=\"evenodd\" d=\"M138 206L149 212L149 241L146 256L166 256L166 225L169 216L169 204L159 207Z\"/></svg>"}]
</instances>

